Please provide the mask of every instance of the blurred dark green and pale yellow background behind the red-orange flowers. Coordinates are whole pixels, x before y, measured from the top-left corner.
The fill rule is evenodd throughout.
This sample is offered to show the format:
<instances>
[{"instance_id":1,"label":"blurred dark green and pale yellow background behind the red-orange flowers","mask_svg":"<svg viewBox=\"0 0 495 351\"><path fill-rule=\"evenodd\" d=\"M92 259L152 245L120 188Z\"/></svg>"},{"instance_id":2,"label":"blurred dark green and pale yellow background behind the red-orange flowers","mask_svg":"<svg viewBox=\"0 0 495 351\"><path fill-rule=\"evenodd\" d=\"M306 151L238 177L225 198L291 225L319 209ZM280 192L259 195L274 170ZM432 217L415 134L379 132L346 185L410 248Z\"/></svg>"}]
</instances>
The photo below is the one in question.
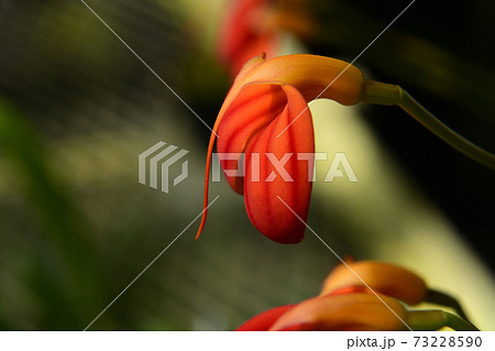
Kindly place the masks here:
<instances>
[{"instance_id":1,"label":"blurred dark green and pale yellow background behind the red-orange flowers","mask_svg":"<svg viewBox=\"0 0 495 351\"><path fill-rule=\"evenodd\" d=\"M229 1L86 2L213 124ZM408 3L272 1L274 52L352 61ZM417 1L355 64L495 152L494 15L491 1ZM82 330L201 211L210 131L81 1L0 1L0 329ZM318 174L309 226L342 257L405 264L495 330L495 173L396 108L311 111L317 151L345 152L360 182ZM189 151L169 194L138 183L158 141ZM317 238L271 242L226 182L217 195L200 240L195 222L90 330L229 330L318 294L338 259Z\"/></svg>"}]
</instances>

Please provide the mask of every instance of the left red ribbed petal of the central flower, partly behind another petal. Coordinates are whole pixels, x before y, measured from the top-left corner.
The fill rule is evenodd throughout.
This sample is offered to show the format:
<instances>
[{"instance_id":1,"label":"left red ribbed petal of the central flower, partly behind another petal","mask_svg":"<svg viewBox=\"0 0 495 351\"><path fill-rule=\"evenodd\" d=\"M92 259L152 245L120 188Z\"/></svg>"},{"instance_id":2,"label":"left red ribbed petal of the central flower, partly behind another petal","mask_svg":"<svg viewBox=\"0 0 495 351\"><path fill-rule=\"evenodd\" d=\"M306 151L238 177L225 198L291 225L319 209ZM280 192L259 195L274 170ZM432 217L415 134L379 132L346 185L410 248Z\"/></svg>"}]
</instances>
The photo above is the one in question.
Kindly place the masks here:
<instances>
[{"instance_id":1,"label":"left red ribbed petal of the central flower, partly behind another petal","mask_svg":"<svg viewBox=\"0 0 495 351\"><path fill-rule=\"evenodd\" d=\"M242 162L248 142L277 118L285 106L287 98L279 85L252 84L243 87L229 108L226 110L218 129L217 151L232 153L238 157L220 160L226 177L238 194L243 194L242 175L231 175ZM234 155L232 155L234 156Z\"/></svg>"}]
</instances>

